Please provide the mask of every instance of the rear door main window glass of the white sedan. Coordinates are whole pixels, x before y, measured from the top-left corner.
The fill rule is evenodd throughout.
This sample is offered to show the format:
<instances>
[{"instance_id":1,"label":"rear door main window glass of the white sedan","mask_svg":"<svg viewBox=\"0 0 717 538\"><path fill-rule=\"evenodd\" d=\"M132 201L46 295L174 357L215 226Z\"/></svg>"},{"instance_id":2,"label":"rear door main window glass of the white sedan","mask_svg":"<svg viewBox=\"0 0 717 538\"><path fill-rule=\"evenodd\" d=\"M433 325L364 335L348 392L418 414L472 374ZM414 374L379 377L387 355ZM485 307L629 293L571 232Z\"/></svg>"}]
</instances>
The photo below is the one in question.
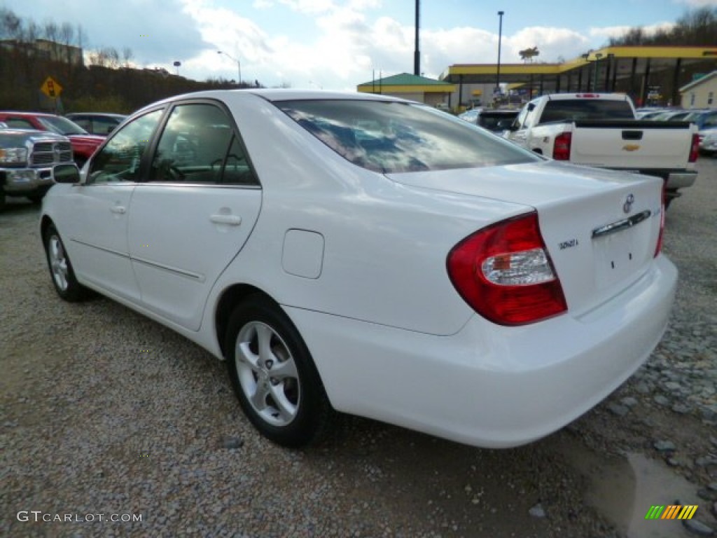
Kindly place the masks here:
<instances>
[{"instance_id":1,"label":"rear door main window glass of the white sedan","mask_svg":"<svg viewBox=\"0 0 717 538\"><path fill-rule=\"evenodd\" d=\"M221 108L177 105L159 139L150 181L220 183L233 136L232 123Z\"/></svg>"}]
</instances>

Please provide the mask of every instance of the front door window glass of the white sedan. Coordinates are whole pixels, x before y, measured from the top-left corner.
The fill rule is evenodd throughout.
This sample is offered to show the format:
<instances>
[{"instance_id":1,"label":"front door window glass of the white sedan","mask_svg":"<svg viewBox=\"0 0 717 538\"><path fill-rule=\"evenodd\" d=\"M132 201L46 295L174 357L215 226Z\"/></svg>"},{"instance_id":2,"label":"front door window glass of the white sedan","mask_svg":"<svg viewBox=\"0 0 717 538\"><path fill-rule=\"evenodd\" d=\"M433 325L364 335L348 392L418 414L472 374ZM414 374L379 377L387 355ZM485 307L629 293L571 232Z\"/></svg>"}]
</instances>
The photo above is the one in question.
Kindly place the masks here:
<instances>
[{"instance_id":1,"label":"front door window glass of the white sedan","mask_svg":"<svg viewBox=\"0 0 717 538\"><path fill-rule=\"evenodd\" d=\"M138 181L142 156L162 113L154 110L117 131L92 159L87 182Z\"/></svg>"}]
</instances>

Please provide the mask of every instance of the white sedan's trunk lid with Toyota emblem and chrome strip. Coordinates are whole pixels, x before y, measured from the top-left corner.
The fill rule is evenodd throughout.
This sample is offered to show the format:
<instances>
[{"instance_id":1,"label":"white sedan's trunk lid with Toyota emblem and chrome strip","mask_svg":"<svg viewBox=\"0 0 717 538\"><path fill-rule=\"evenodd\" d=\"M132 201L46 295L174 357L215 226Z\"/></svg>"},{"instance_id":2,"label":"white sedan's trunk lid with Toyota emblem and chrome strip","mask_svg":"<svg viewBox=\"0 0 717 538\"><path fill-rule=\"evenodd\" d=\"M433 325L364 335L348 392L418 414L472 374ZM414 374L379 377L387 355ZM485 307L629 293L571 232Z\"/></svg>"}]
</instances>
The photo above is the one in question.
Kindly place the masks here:
<instances>
[{"instance_id":1,"label":"white sedan's trunk lid with Toyota emblem and chrome strip","mask_svg":"<svg viewBox=\"0 0 717 538\"><path fill-rule=\"evenodd\" d=\"M412 187L535 208L574 316L634 283L655 255L660 179L554 162L388 175Z\"/></svg>"}]
</instances>

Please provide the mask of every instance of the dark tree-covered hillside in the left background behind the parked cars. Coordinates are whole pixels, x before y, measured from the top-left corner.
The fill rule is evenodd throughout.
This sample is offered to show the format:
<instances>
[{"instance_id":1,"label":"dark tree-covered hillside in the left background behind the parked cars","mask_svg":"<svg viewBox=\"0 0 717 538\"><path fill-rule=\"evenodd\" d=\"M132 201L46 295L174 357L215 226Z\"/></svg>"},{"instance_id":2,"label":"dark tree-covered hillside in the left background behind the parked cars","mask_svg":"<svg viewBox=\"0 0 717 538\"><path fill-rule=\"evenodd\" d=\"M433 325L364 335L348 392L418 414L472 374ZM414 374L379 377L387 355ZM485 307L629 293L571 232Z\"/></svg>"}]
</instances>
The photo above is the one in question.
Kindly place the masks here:
<instances>
[{"instance_id":1,"label":"dark tree-covered hillside in the left background behind the parked cars","mask_svg":"<svg viewBox=\"0 0 717 538\"><path fill-rule=\"evenodd\" d=\"M37 24L0 8L0 109L130 113L171 95L250 86L223 79L189 80L163 69L137 69L131 49L85 51L86 41L80 24ZM40 91L48 76L62 86L59 99Z\"/></svg>"}]
</instances>

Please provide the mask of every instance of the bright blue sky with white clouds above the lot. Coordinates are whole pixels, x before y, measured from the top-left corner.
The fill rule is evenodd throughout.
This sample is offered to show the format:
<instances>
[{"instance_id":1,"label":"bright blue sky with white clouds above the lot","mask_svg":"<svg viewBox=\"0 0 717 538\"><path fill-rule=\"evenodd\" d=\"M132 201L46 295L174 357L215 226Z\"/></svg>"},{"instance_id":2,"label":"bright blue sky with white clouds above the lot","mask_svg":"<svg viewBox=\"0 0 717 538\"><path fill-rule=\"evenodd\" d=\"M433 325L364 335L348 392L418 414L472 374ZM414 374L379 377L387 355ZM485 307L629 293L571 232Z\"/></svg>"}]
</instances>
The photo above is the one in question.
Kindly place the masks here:
<instances>
[{"instance_id":1,"label":"bright blue sky with white clouds above the lot","mask_svg":"<svg viewBox=\"0 0 717 538\"><path fill-rule=\"evenodd\" d=\"M631 27L669 28L717 0L421 0L421 72L460 63L570 60ZM129 47L136 67L195 80L258 80L267 87L356 90L373 77L413 72L410 0L0 0L37 24L81 24L85 49ZM218 54L217 51L224 54ZM237 65L238 61L238 65Z\"/></svg>"}]
</instances>

